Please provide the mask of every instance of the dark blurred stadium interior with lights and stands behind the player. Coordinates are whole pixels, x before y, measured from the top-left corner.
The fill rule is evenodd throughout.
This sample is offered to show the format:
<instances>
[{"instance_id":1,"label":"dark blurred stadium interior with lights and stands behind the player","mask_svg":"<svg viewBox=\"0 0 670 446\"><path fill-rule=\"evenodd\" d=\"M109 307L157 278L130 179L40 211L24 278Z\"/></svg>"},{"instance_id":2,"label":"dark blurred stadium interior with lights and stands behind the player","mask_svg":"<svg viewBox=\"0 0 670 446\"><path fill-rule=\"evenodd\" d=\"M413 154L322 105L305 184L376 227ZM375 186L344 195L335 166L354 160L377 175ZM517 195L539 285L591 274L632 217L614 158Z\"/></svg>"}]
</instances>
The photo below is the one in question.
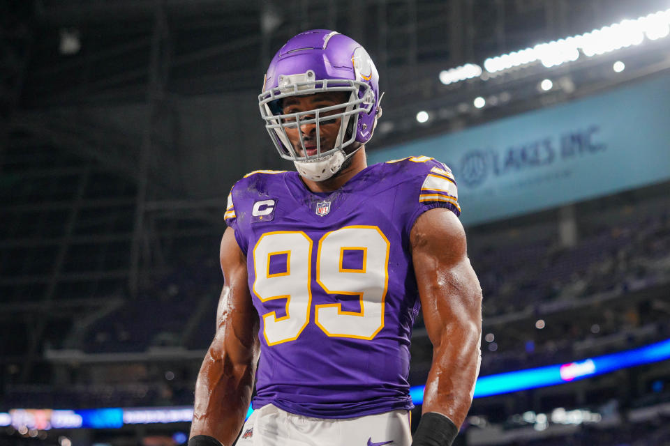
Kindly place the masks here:
<instances>
[{"instance_id":1,"label":"dark blurred stadium interior with lights and stands behind the player","mask_svg":"<svg viewBox=\"0 0 670 446\"><path fill-rule=\"evenodd\" d=\"M256 96L313 28L378 65L371 162L459 180L484 338L457 444L670 444L668 0L0 4L0 445L184 443L225 197L290 169ZM430 360L419 321L415 424Z\"/></svg>"}]
</instances>

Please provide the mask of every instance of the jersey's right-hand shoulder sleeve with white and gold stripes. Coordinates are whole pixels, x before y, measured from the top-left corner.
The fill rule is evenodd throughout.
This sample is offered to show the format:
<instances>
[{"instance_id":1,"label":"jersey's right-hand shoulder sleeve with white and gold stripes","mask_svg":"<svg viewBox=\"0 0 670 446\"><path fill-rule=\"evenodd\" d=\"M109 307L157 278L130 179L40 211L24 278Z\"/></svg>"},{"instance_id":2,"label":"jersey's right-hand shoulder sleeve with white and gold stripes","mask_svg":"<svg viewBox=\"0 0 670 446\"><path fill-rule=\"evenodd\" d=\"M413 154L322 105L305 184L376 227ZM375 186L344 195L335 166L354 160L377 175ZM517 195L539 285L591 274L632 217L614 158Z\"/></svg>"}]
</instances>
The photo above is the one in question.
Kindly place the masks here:
<instances>
[{"instance_id":1,"label":"jersey's right-hand shoulder sleeve with white and gold stripes","mask_svg":"<svg viewBox=\"0 0 670 446\"><path fill-rule=\"evenodd\" d=\"M461 215L459 192L452 170L446 164L428 158L411 181L412 213L408 221L411 230L419 215L434 208L447 208L456 216Z\"/></svg>"}]
</instances>

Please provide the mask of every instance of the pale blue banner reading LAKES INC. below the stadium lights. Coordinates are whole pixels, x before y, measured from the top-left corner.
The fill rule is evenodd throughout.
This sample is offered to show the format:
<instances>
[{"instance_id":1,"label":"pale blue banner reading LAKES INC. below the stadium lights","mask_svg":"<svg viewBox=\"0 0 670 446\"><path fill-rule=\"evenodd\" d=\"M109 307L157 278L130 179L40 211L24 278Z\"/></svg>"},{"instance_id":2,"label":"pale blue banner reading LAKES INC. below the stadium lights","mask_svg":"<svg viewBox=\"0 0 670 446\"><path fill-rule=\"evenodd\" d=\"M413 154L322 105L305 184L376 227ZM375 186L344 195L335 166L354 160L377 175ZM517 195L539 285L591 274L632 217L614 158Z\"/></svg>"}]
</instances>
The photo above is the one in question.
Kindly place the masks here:
<instances>
[{"instance_id":1,"label":"pale blue banner reading LAKES INC. below the stadium lights","mask_svg":"<svg viewBox=\"0 0 670 446\"><path fill-rule=\"evenodd\" d=\"M659 183L670 178L670 76L371 151L368 163L410 155L454 171L463 224Z\"/></svg>"}]
</instances>

